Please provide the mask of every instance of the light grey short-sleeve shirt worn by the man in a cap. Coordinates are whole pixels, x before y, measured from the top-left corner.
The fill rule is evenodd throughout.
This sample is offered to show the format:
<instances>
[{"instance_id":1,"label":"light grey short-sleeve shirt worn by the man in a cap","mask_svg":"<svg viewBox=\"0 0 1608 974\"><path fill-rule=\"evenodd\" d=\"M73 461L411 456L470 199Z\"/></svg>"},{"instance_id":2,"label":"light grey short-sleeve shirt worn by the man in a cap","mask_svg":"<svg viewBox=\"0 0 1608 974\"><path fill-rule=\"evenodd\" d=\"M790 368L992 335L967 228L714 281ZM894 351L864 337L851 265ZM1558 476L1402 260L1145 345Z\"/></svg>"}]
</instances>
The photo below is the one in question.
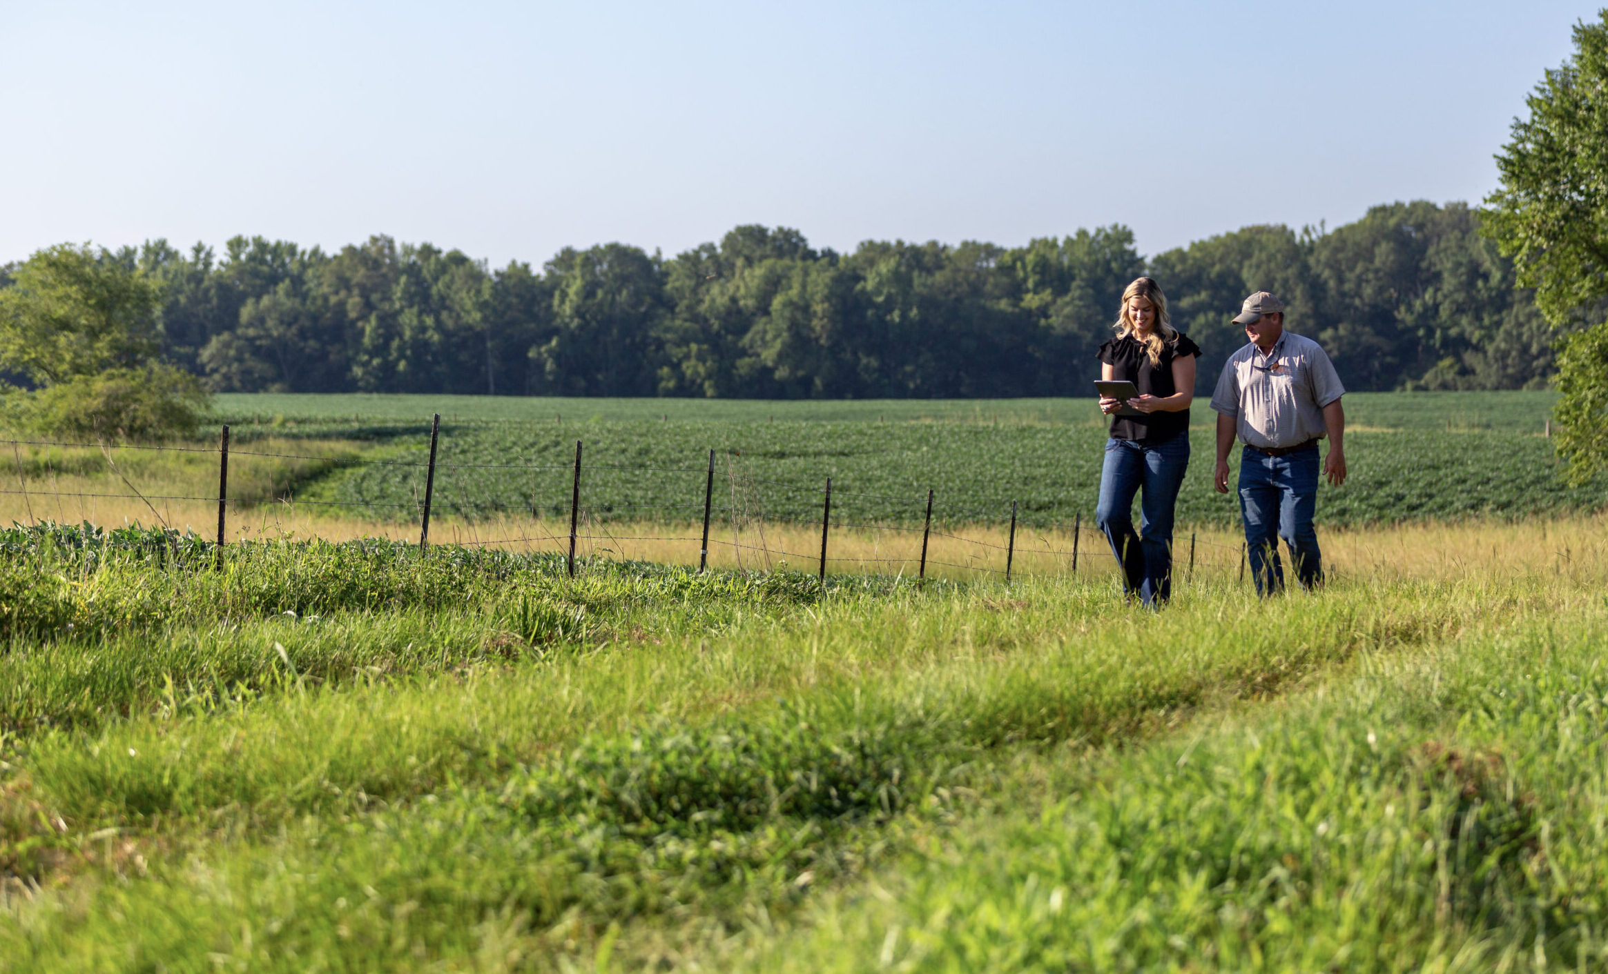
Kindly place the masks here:
<instances>
[{"instance_id":1,"label":"light grey short-sleeve shirt worn by the man in a cap","mask_svg":"<svg viewBox=\"0 0 1608 974\"><path fill-rule=\"evenodd\" d=\"M1235 418L1241 442L1283 448L1323 437L1323 407L1344 394L1328 354L1315 341L1285 331L1267 355L1249 342L1229 357L1211 408Z\"/></svg>"}]
</instances>

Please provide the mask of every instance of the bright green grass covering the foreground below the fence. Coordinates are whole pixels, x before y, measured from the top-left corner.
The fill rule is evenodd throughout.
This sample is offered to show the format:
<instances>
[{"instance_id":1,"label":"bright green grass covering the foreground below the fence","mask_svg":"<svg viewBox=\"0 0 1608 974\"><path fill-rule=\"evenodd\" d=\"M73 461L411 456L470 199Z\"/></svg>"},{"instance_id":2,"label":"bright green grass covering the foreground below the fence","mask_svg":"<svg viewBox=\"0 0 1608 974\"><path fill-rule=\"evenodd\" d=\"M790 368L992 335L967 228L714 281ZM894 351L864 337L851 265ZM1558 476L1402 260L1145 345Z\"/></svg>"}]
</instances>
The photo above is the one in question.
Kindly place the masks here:
<instances>
[{"instance_id":1,"label":"bright green grass covering the foreground below the fence","mask_svg":"<svg viewBox=\"0 0 1608 974\"><path fill-rule=\"evenodd\" d=\"M0 966L1594 969L1608 538L1568 530L1161 614L13 530Z\"/></svg>"}]
</instances>

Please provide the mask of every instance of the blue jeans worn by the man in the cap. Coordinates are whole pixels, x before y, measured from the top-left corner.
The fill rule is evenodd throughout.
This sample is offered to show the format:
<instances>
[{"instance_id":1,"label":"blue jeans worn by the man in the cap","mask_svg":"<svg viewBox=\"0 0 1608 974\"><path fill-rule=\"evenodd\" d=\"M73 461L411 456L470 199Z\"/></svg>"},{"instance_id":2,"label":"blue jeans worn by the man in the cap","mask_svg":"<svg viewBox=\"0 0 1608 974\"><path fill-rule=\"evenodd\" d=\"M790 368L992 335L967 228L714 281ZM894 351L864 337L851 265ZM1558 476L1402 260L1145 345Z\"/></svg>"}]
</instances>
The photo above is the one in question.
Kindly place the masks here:
<instances>
[{"instance_id":1,"label":"blue jeans worn by the man in the cap","mask_svg":"<svg viewBox=\"0 0 1608 974\"><path fill-rule=\"evenodd\" d=\"M1312 527L1317 476L1317 444L1283 456L1269 456L1256 447L1246 447L1240 455L1240 514L1245 518L1245 546L1257 595L1272 595L1285 587L1278 538L1290 545L1301 587L1323 583L1323 553L1317 548L1317 530Z\"/></svg>"}]
</instances>

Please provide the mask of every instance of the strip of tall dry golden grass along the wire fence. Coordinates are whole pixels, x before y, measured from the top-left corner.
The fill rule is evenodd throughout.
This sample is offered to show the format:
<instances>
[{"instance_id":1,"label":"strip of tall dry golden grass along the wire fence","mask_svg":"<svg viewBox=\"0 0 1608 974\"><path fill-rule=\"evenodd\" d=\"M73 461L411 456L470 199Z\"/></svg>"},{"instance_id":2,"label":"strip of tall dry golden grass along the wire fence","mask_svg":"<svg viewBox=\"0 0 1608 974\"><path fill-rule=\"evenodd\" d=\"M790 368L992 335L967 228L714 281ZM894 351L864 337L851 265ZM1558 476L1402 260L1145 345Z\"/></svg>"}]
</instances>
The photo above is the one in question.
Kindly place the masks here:
<instances>
[{"instance_id":1,"label":"strip of tall dry golden grass along the wire fence","mask_svg":"<svg viewBox=\"0 0 1608 974\"><path fill-rule=\"evenodd\" d=\"M338 447L328 450L336 456ZM204 456L204 455L203 455ZM3 460L3 458L0 458ZM204 461L215 464L215 458ZM306 464L320 461L302 461ZM3 468L6 464L0 464ZM121 466L133 479L145 476L151 490L140 497L106 497L127 493L121 482L108 484L103 471L31 476L18 490L13 474L0 493L0 524L32 524L39 521L80 522L103 527L124 524L166 524L177 530L195 530L212 537L217 530L217 501L174 500L185 490L206 492L198 466L188 460L182 476L151 477L137 463ZM132 468L132 469L130 469ZM215 479L215 469L204 471ZM257 498L256 503L232 505L227 540L323 538L354 540L384 537L418 540L416 521L378 521L352 518L339 510L270 500L273 484L285 484L297 471L262 469L235 489L232 497ZM215 482L211 487L215 493ZM195 495L191 495L195 497ZM585 558L638 559L662 564L696 564L699 558L699 524L605 521L582 511L577 526L576 553ZM466 521L450 514L434 514L429 540L439 545L474 545L516 551L568 551L568 518L532 519L498 516ZM733 522L716 519L709 526L709 564L733 569L818 569L820 529L817 526L773 524L764 521ZM1235 530L1217 527L1180 527L1174 535L1175 579L1182 583L1193 575L1238 575L1245 538ZM1319 542L1331 574L1365 579L1481 579L1507 577L1513 572L1552 571L1568 574L1581 564L1602 561L1608 555L1608 514L1555 521L1466 521L1452 524L1413 522L1362 529L1320 529ZM1003 577L1010 532L1007 524L934 526L928 538L928 575L933 577ZM1193 558L1192 558L1193 548ZM1074 569L1076 550L1076 569ZM921 530L918 527L857 529L833 527L827 538L828 572L880 572L912 575L920 571ZM1192 566L1193 564L1193 571ZM1071 526L1040 529L1018 526L1011 571L1034 575L1106 575L1114 559L1105 538L1090 524L1074 537Z\"/></svg>"}]
</instances>

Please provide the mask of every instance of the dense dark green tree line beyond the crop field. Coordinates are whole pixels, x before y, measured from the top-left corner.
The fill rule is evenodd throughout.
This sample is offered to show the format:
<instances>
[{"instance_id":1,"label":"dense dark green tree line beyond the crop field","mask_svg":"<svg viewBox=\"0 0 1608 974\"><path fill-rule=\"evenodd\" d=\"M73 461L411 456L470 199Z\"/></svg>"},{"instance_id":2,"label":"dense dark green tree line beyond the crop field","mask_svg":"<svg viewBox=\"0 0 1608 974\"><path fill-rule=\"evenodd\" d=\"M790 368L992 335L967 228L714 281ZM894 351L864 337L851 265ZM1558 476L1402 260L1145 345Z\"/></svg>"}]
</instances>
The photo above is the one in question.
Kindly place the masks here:
<instances>
[{"instance_id":1,"label":"dense dark green tree line beyond the crop field","mask_svg":"<svg viewBox=\"0 0 1608 974\"><path fill-rule=\"evenodd\" d=\"M1325 344L1349 389L1544 384L1555 333L1478 222L1462 203L1397 203L1335 230L1246 227L1150 260L1121 225L849 254L738 227L672 259L613 243L540 270L388 236L334 254L158 239L100 259L158 284L162 357L219 392L1087 395L1142 273L1204 349L1201 389L1245 342L1229 318L1257 289L1290 304L1291 329ZM0 288L21 267L0 268Z\"/></svg>"}]
</instances>

